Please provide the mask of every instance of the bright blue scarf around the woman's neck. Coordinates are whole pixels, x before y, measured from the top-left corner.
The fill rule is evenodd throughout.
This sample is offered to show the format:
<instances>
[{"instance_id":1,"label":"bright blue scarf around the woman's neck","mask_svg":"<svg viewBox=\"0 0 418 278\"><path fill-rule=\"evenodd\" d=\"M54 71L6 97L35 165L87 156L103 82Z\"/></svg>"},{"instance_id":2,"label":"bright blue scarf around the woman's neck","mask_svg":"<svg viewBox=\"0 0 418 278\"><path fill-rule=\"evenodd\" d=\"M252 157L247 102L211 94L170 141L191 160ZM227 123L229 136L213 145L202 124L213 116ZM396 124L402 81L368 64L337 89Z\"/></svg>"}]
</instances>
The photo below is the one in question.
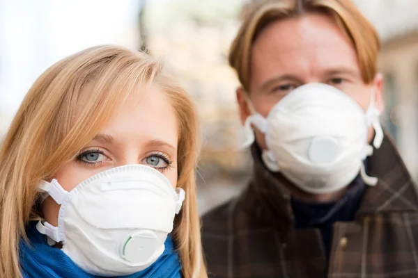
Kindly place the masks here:
<instances>
[{"instance_id":1,"label":"bright blue scarf around the woman's neck","mask_svg":"<svg viewBox=\"0 0 418 278\"><path fill-rule=\"evenodd\" d=\"M20 265L24 278L98 278L79 268L60 249L47 244L45 236L36 229L36 223L26 229L29 245L20 240ZM164 243L164 253L150 267L132 275L120 278L181 278L181 265L178 254L173 250L170 236Z\"/></svg>"}]
</instances>

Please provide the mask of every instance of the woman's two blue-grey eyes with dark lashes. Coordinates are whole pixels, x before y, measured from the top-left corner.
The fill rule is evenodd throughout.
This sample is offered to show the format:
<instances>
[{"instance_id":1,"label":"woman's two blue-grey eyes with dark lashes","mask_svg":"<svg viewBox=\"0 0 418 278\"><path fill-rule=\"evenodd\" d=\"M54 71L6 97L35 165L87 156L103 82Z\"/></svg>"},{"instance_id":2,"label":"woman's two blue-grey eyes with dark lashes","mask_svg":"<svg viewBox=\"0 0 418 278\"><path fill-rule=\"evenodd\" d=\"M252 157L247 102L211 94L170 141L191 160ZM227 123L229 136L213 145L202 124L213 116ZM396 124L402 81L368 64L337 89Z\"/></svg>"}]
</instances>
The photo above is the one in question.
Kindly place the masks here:
<instances>
[{"instance_id":1,"label":"woman's two blue-grey eyes with dark lashes","mask_svg":"<svg viewBox=\"0 0 418 278\"><path fill-rule=\"evenodd\" d=\"M76 157L76 161L84 163L84 165L100 167L105 161L110 161L111 159L102 152L100 149L88 149ZM153 167L160 172L167 170L171 167L173 161L170 161L169 156L164 153L153 153L146 156L141 160L141 164L148 165Z\"/></svg>"}]
</instances>

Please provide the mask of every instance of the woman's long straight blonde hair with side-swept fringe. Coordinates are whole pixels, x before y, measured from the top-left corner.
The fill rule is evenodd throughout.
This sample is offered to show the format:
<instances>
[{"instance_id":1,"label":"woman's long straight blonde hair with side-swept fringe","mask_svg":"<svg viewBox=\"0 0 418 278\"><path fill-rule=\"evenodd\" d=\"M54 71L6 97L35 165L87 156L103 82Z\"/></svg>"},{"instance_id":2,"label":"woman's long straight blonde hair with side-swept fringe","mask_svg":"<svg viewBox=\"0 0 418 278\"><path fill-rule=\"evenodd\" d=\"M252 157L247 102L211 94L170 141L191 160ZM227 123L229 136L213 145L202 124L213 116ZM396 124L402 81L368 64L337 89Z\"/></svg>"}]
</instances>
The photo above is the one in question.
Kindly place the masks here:
<instances>
[{"instance_id":1,"label":"woman's long straight blonde hair with side-swept fringe","mask_svg":"<svg viewBox=\"0 0 418 278\"><path fill-rule=\"evenodd\" d=\"M196 205L199 138L192 101L161 63L112 46L86 49L50 67L17 111L0 149L0 277L22 277L19 241L26 240L26 224L37 218L40 180L50 179L62 163L75 158L116 108L144 84L159 86L176 110L177 186L185 190L186 199L176 216L173 238L184 277L207 277ZM86 85L88 94L83 94Z\"/></svg>"}]
</instances>

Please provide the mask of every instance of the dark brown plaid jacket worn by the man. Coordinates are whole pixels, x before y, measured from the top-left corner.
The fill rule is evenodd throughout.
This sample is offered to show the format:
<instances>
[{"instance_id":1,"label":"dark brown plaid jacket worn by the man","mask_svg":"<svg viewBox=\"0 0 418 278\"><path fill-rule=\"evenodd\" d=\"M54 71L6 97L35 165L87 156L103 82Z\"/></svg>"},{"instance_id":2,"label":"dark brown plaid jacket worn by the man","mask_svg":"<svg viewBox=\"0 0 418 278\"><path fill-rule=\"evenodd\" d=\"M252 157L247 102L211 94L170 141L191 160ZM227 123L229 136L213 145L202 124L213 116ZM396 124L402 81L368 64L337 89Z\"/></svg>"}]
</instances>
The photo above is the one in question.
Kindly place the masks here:
<instances>
[{"instance_id":1,"label":"dark brown plaid jacket worn by the man","mask_svg":"<svg viewBox=\"0 0 418 278\"><path fill-rule=\"evenodd\" d=\"M366 189L355 221L334 224L330 261L318 229L293 229L288 181L252 152L247 188L203 217L209 277L418 277L417 192L387 136L368 160L378 184Z\"/></svg>"}]
</instances>

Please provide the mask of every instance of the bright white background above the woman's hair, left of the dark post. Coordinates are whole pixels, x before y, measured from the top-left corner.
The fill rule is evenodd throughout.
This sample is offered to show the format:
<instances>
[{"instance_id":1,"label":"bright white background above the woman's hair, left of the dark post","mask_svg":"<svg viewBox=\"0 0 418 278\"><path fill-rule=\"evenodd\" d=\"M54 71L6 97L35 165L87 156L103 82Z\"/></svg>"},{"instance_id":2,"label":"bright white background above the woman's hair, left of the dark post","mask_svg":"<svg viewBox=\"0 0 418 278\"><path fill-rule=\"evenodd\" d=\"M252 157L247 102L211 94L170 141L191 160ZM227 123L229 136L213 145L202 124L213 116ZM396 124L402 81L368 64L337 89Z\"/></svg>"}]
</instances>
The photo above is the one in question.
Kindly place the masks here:
<instances>
[{"instance_id":1,"label":"bright white background above the woman's hair, left of the dark post","mask_svg":"<svg viewBox=\"0 0 418 278\"><path fill-rule=\"evenodd\" d=\"M100 44L139 44L138 0L0 0L0 138L38 76Z\"/></svg>"}]
</instances>

